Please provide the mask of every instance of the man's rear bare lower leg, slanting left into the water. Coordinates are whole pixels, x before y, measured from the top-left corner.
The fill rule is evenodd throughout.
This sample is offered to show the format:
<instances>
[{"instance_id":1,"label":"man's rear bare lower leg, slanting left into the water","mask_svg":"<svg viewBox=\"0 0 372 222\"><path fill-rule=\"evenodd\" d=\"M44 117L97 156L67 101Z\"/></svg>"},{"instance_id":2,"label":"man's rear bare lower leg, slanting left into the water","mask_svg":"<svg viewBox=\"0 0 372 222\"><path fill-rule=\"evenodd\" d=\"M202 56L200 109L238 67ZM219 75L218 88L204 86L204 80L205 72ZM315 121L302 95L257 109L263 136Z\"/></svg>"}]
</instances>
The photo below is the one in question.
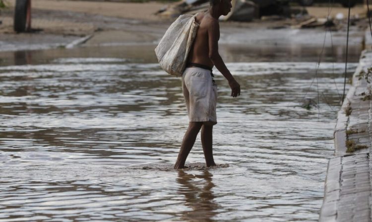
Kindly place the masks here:
<instances>
[{"instance_id":1,"label":"man's rear bare lower leg, slanting left into the water","mask_svg":"<svg viewBox=\"0 0 372 222\"><path fill-rule=\"evenodd\" d=\"M202 122L189 122L184 140L182 141L180 153L178 154L178 158L174 166L175 169L185 167L186 158L195 143L196 136L199 133L202 124Z\"/></svg>"}]
</instances>

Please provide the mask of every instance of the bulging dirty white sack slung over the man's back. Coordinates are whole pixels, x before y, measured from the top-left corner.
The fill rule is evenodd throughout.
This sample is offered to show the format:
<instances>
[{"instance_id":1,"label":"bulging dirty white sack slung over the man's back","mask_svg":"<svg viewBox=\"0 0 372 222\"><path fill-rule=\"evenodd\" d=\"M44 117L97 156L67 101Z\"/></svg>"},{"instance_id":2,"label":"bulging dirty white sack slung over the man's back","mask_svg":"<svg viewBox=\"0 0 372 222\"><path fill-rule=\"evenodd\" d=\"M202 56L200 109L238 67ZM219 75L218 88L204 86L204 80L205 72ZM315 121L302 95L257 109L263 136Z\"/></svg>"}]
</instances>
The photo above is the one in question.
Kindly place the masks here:
<instances>
[{"instance_id":1,"label":"bulging dirty white sack slung over the man's back","mask_svg":"<svg viewBox=\"0 0 372 222\"><path fill-rule=\"evenodd\" d=\"M180 15L155 48L160 66L171 75L182 76L186 68L187 56L199 28L196 15Z\"/></svg>"}]
</instances>

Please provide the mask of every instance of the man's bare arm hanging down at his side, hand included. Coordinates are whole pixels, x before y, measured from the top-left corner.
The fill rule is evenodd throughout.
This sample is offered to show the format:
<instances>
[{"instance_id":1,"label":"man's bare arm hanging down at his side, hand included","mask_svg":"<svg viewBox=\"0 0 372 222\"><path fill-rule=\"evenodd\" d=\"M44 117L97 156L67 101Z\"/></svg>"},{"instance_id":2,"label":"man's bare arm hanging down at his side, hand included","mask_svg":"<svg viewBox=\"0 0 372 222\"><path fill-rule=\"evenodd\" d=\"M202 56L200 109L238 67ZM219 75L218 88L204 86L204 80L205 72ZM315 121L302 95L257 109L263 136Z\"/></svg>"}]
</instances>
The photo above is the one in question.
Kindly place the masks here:
<instances>
[{"instance_id":1,"label":"man's bare arm hanging down at his side, hand included","mask_svg":"<svg viewBox=\"0 0 372 222\"><path fill-rule=\"evenodd\" d=\"M212 60L214 66L222 73L227 79L231 88L231 96L240 96L240 85L234 79L229 69L226 67L225 62L218 53L218 40L220 38L220 26L217 21L212 21L208 29L208 46L209 46L209 58Z\"/></svg>"}]
</instances>

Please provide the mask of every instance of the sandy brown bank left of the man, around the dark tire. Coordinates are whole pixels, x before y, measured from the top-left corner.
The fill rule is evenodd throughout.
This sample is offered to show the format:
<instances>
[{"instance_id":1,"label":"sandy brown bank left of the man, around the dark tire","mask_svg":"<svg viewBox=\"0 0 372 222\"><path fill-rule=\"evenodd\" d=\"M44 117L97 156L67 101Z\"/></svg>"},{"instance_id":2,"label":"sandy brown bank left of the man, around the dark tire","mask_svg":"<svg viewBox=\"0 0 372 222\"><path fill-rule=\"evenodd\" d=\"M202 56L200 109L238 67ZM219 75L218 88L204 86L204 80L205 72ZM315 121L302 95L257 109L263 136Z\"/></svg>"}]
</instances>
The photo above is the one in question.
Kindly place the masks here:
<instances>
[{"instance_id":1,"label":"sandy brown bank left of the man, around the dark tire","mask_svg":"<svg viewBox=\"0 0 372 222\"><path fill-rule=\"evenodd\" d=\"M164 3L35 0L32 1L32 28L36 32L16 34L12 30L15 0L7 0L7 3L9 8L0 15L0 51L26 49L27 44L32 45L39 37L40 44L50 45L49 39L55 35L62 38L56 40L54 47L71 42L71 38L63 40L63 37L77 39L87 35L93 36L87 45L149 43L159 39L170 24L154 15ZM24 41L19 41L22 38Z\"/></svg>"}]
</instances>

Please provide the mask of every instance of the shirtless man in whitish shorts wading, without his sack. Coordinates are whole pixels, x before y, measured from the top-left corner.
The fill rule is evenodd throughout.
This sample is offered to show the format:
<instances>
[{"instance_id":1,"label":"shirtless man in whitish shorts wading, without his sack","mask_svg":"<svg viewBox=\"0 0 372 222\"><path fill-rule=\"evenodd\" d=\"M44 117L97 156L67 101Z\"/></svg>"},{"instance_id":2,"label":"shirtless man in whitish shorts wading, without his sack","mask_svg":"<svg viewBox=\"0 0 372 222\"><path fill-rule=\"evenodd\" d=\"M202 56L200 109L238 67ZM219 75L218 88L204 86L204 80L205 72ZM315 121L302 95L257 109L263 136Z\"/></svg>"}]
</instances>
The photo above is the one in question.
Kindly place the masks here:
<instances>
[{"instance_id":1,"label":"shirtless man in whitish shorts wading, without his sack","mask_svg":"<svg viewBox=\"0 0 372 222\"><path fill-rule=\"evenodd\" d=\"M240 95L239 83L231 75L218 53L218 40L220 39L218 18L221 15L227 15L231 7L231 0L210 0L209 9L199 13L195 18L200 26L188 55L188 65L182 76L189 125L174 166L175 169L185 167L186 158L200 129L206 165L216 166L212 153L212 129L217 123L217 86L213 80L213 65L229 82L231 96Z\"/></svg>"}]
</instances>

